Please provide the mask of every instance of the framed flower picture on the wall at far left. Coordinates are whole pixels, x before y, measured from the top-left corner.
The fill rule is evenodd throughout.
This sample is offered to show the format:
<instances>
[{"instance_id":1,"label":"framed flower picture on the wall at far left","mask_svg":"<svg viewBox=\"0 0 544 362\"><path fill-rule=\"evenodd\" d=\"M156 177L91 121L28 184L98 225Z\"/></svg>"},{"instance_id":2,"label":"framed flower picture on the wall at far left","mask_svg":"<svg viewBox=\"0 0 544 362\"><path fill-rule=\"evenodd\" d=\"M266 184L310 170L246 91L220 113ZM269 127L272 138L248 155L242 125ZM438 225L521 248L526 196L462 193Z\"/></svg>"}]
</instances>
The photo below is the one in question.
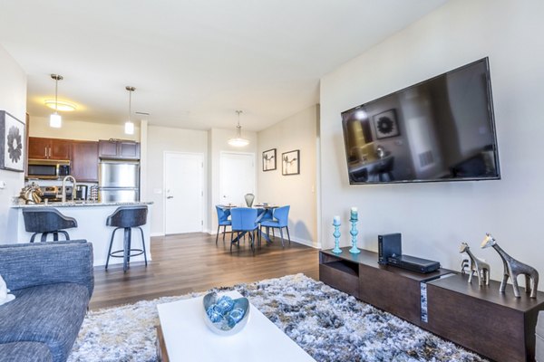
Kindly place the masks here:
<instances>
[{"instance_id":1,"label":"framed flower picture on the wall at far left","mask_svg":"<svg viewBox=\"0 0 544 362\"><path fill-rule=\"evenodd\" d=\"M0 168L24 172L24 123L0 110Z\"/></svg>"}]
</instances>

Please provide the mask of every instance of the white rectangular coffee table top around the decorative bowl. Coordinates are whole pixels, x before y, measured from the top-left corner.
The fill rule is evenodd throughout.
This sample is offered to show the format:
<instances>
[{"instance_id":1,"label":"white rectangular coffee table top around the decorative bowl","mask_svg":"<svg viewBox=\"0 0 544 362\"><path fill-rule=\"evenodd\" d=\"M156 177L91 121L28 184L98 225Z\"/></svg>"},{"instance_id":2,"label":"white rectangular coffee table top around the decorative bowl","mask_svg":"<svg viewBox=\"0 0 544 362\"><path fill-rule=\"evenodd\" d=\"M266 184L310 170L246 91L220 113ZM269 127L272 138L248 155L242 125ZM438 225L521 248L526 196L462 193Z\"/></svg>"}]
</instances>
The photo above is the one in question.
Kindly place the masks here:
<instances>
[{"instance_id":1,"label":"white rectangular coffee table top around the decorative bowl","mask_svg":"<svg viewBox=\"0 0 544 362\"><path fill-rule=\"evenodd\" d=\"M240 298L238 291L219 295ZM315 361L304 349L250 305L248 324L238 334L219 336L204 324L202 298L160 304L159 343L164 360L177 361Z\"/></svg>"}]
</instances>

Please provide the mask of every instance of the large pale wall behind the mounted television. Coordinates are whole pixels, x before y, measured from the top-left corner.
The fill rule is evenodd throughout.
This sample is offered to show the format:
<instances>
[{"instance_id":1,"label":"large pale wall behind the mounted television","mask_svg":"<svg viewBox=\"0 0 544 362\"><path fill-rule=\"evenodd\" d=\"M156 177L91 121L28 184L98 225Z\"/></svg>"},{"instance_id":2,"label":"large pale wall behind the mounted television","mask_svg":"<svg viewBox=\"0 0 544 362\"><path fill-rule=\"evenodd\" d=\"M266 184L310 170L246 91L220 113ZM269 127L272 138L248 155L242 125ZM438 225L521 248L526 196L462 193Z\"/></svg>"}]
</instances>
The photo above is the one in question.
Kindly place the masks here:
<instances>
[{"instance_id":1,"label":"large pale wall behind the mounted television","mask_svg":"<svg viewBox=\"0 0 544 362\"><path fill-rule=\"evenodd\" d=\"M380 233L403 233L403 252L458 270L463 241L481 250L490 232L506 252L544 274L544 2L458 0L345 63L321 80L321 201L325 248L333 246L330 222L341 214L349 241L349 207L359 206L360 246L377 250ZM489 56L495 106L500 181L349 186L340 112L444 71ZM540 283L540 290L544 285Z\"/></svg>"}]
</instances>

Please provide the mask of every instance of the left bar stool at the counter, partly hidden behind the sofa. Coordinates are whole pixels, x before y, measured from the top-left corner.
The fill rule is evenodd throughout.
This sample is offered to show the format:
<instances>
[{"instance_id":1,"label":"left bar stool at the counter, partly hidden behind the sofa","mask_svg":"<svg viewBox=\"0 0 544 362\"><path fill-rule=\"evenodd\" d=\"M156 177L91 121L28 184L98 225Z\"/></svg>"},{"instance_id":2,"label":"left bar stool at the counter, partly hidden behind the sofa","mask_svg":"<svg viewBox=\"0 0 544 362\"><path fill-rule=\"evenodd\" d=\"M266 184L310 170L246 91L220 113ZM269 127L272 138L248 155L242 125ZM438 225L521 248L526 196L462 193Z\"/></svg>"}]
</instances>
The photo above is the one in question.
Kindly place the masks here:
<instances>
[{"instance_id":1,"label":"left bar stool at the counter, partly hidden behind the sofa","mask_svg":"<svg viewBox=\"0 0 544 362\"><path fill-rule=\"evenodd\" d=\"M77 227L77 221L73 217L61 214L57 209L51 207L32 207L23 209L24 230L27 233L33 233L30 237L30 243L34 243L34 238L41 233L40 242L47 241L47 234L53 233L53 241L59 240L59 233L62 233L66 240L70 240L70 235L63 229Z\"/></svg>"}]
</instances>

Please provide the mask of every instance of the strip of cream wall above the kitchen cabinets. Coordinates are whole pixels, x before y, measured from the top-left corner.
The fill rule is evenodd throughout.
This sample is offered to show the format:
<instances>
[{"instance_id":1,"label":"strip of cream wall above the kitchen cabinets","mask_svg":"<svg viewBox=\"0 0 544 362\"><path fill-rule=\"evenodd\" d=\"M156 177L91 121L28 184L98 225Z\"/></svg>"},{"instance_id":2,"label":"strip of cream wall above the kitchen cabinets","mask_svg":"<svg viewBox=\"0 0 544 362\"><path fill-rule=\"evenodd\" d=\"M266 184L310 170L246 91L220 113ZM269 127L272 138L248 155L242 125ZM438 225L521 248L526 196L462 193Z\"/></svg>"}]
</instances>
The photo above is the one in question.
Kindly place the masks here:
<instances>
[{"instance_id":1,"label":"strip of cream wall above the kitchen cabinets","mask_svg":"<svg viewBox=\"0 0 544 362\"><path fill-rule=\"evenodd\" d=\"M49 127L48 118L33 117L30 115L29 136L79 139L85 141L121 138L140 142L140 127L137 126L137 123L134 126L134 134L127 135L124 133L124 124L88 122L83 120L65 119L65 117L63 117L63 127L60 129L53 129L52 127Z\"/></svg>"}]
</instances>

